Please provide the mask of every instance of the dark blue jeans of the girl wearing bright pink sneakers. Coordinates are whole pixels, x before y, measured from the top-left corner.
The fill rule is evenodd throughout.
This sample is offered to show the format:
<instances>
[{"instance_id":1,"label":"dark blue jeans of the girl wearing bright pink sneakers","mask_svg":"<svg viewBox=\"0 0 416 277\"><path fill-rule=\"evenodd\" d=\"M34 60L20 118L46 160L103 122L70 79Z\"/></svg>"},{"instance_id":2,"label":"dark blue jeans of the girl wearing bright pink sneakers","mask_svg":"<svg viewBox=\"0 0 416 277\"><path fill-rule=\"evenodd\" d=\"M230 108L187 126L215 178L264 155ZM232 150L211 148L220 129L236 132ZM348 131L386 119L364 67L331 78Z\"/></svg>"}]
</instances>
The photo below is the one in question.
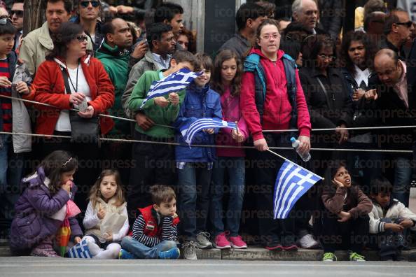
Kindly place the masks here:
<instances>
[{"instance_id":1,"label":"dark blue jeans of the girl wearing bright pink sneakers","mask_svg":"<svg viewBox=\"0 0 416 277\"><path fill-rule=\"evenodd\" d=\"M224 176L228 173L230 197L223 211ZM209 218L214 225L214 236L224 232L223 218L230 236L237 236L240 229L244 199L244 157L219 157L212 169L211 209Z\"/></svg>"}]
</instances>

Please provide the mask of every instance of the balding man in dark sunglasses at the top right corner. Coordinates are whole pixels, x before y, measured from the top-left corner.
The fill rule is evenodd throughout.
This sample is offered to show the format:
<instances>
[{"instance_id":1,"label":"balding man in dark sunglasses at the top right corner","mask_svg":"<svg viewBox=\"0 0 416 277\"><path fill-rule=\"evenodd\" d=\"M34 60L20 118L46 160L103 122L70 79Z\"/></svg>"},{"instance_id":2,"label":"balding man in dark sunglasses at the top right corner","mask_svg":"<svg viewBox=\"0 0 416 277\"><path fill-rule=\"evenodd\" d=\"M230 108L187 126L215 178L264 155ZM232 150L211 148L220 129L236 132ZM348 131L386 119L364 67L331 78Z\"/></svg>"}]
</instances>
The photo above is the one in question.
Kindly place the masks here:
<instances>
[{"instance_id":1,"label":"balding man in dark sunglasses at the top right corner","mask_svg":"<svg viewBox=\"0 0 416 277\"><path fill-rule=\"evenodd\" d=\"M391 49L397 53L399 59L405 61L406 55L403 45L410 38L413 29L415 28L407 11L392 10L384 24L384 35L386 37L380 42L380 49Z\"/></svg>"}]
</instances>

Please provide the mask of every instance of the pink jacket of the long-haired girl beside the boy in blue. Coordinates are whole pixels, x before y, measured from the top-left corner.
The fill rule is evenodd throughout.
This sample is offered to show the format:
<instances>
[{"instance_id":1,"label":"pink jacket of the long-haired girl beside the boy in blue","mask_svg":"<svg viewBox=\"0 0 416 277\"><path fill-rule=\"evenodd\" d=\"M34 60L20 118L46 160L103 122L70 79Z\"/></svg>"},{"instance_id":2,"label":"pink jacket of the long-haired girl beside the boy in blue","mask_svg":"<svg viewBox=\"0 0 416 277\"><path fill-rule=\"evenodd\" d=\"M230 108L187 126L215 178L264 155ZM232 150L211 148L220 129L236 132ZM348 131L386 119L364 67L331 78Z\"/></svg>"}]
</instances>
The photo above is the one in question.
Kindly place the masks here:
<instances>
[{"instance_id":1,"label":"pink jacket of the long-haired girl beside the boy in blue","mask_svg":"<svg viewBox=\"0 0 416 277\"><path fill-rule=\"evenodd\" d=\"M230 94L230 88L221 95L221 107L223 110L223 120L229 122L238 122L238 128L240 132L244 134L247 139L249 136L249 130L242 113L240 112L240 97L233 97ZM233 145L239 146L242 143L237 143L231 136L233 129L222 128L221 132L216 135L216 145ZM245 157L245 151L243 148L216 148L216 155L219 157Z\"/></svg>"}]
</instances>

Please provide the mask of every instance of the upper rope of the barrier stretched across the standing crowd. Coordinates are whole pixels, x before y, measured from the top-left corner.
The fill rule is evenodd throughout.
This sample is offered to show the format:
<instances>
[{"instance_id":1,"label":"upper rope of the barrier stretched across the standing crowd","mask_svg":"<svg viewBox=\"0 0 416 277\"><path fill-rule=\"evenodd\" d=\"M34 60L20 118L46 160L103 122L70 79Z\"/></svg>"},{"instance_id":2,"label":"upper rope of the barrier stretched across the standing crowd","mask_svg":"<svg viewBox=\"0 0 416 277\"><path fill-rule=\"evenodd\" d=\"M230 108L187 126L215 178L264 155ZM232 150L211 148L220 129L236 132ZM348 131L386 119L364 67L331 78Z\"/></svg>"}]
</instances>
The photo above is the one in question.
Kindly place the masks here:
<instances>
[{"instance_id":1,"label":"upper rope of the barrier stretched across the standing crowd","mask_svg":"<svg viewBox=\"0 0 416 277\"><path fill-rule=\"evenodd\" d=\"M61 110L61 108L58 108L56 106L50 105L50 104L46 104L46 103L41 103L41 102L37 102L37 101L32 101L32 100L27 100L27 99L21 99L18 97L8 97L6 95L1 95L0 97L3 98L8 98L8 99L13 99L13 100L18 100L18 101L23 101L23 102L27 102L30 104L36 104L36 105L41 105L41 106L47 106L50 108L56 108ZM69 111L76 111L78 112L79 110L75 109L75 108L71 108ZM99 116L103 117L103 118L112 118L112 119L116 119L116 120L125 120L128 122L136 122L136 120L133 120L131 118L120 118L118 116L115 115L105 115L103 113L99 113ZM169 126L169 125L161 125L161 124L155 124L155 126L159 126L159 127L165 127L165 128L169 128L169 129L176 129L175 127ZM346 128L320 128L320 129L311 129L312 132L325 132L325 131L335 131L335 130L374 130L374 129L410 129L410 128L415 128L416 129L416 125L407 125L407 126L380 126L380 127L346 127ZM282 129L282 130L263 130L263 133L278 133L278 132L298 132L298 129Z\"/></svg>"}]
</instances>

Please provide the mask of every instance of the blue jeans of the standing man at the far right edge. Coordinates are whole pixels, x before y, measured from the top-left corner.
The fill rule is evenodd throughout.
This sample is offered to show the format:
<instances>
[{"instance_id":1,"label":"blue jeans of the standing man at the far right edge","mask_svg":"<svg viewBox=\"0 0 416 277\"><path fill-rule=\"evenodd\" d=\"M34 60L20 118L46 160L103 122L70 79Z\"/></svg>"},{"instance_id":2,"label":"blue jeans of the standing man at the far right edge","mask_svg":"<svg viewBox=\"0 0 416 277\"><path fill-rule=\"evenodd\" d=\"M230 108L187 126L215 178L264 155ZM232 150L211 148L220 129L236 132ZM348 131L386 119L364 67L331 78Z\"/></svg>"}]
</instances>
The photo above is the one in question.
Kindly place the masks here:
<instances>
[{"instance_id":1,"label":"blue jeans of the standing man at the far right edge","mask_svg":"<svg viewBox=\"0 0 416 277\"><path fill-rule=\"evenodd\" d=\"M394 162L396 166L394 168L393 197L408 207L412 165L410 159L405 157L398 157L394 159Z\"/></svg>"}]
</instances>

